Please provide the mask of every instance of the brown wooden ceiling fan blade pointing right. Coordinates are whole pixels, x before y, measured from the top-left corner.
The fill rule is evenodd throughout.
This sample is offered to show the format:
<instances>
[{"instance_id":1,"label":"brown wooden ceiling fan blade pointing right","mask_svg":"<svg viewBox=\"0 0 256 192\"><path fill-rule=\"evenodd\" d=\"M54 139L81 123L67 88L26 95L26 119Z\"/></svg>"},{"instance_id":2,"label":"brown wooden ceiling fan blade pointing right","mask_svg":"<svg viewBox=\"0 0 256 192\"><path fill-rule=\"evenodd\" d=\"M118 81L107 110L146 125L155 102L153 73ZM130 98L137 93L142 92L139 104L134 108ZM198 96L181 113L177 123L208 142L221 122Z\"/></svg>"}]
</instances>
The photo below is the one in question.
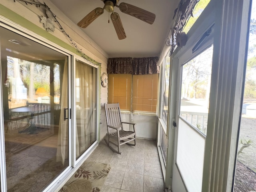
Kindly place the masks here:
<instances>
[{"instance_id":1,"label":"brown wooden ceiling fan blade pointing right","mask_svg":"<svg viewBox=\"0 0 256 192\"><path fill-rule=\"evenodd\" d=\"M134 16L148 24L153 24L156 18L156 15L154 13L151 13L128 3L120 3L118 7L121 12Z\"/></svg>"}]
</instances>

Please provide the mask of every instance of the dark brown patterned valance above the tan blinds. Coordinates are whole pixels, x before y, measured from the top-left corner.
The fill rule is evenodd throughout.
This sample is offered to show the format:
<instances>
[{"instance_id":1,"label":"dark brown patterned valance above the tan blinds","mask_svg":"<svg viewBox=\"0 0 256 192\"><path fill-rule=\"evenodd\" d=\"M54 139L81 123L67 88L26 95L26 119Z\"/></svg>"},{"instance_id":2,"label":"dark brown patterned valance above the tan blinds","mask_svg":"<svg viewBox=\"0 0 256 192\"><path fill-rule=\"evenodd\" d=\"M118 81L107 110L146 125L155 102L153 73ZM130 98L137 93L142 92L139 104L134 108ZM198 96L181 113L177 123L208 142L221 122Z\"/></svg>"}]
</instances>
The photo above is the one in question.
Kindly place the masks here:
<instances>
[{"instance_id":1,"label":"dark brown patterned valance above the tan blinds","mask_svg":"<svg viewBox=\"0 0 256 192\"><path fill-rule=\"evenodd\" d=\"M108 74L156 74L159 73L158 57L109 58Z\"/></svg>"}]
</instances>

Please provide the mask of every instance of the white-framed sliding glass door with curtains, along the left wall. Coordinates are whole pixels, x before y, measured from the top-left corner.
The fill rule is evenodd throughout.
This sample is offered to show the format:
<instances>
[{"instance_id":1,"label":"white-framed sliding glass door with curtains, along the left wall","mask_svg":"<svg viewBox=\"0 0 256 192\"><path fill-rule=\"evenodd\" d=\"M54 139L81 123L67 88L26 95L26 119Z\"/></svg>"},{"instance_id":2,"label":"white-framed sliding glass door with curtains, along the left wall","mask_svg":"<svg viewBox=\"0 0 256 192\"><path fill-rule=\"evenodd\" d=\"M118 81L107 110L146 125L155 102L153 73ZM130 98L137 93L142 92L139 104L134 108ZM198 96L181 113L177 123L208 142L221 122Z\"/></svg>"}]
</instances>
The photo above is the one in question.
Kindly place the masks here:
<instances>
[{"instance_id":1,"label":"white-framed sliding glass door with curtains, along the left wall","mask_svg":"<svg viewBox=\"0 0 256 192\"><path fill-rule=\"evenodd\" d=\"M0 25L0 191L56 190L96 145L98 66Z\"/></svg>"}]
</instances>

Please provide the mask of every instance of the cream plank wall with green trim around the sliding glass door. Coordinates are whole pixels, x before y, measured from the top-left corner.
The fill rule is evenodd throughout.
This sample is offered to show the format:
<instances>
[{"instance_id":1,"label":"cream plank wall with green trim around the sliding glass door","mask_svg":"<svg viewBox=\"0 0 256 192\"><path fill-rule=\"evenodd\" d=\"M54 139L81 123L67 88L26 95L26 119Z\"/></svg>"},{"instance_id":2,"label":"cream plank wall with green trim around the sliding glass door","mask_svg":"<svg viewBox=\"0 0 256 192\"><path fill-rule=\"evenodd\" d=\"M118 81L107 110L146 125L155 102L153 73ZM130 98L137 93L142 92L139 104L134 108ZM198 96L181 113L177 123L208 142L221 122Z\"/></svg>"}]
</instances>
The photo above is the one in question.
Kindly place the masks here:
<instances>
[{"instance_id":1,"label":"cream plank wall with green trim around the sliding glass door","mask_svg":"<svg viewBox=\"0 0 256 192\"><path fill-rule=\"evenodd\" d=\"M41 1L45 3L50 10L56 15L57 20L60 22L62 28L66 33L74 40L78 47L87 56L101 63L101 74L106 73L108 54L100 48L95 42L93 42L76 24L68 19L64 13L62 13L54 4L49 0ZM44 6L36 7L35 5L26 5L24 2L12 1L12 0L1 0L0 3L0 16L7 18L8 20L27 28L29 31L35 32L36 34L64 47L74 53L76 49L70 44L69 38L64 35L56 24L54 32L46 32L42 23L40 23L40 17L46 16ZM79 42L79 43L78 43ZM100 74L100 75L101 75ZM100 98L101 108L103 104L107 102L107 88L100 86ZM103 108L102 108L103 109ZM103 113L102 113L103 112ZM100 139L106 134L106 118L104 111L100 112Z\"/></svg>"}]
</instances>

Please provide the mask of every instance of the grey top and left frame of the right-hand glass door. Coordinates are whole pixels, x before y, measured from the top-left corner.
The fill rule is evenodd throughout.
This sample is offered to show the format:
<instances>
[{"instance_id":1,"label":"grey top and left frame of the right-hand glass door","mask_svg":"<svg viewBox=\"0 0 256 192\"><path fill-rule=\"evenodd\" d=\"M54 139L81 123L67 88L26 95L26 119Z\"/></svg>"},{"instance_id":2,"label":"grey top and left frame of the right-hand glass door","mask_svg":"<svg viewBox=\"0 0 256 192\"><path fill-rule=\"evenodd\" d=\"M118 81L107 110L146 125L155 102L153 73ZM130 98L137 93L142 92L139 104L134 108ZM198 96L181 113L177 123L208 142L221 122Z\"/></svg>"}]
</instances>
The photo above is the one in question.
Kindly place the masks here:
<instances>
[{"instance_id":1,"label":"grey top and left frame of the right-hand glass door","mask_svg":"<svg viewBox=\"0 0 256 192\"><path fill-rule=\"evenodd\" d=\"M205 48L213 43L214 29L208 38L204 41L202 46L192 54L192 48L196 45L198 40L201 38L202 34L206 32L214 24L214 3L211 1L205 10L202 12L201 16L198 18L194 26L188 32L188 41L186 45L182 48L177 48L173 54L172 58L172 81L171 81L171 96L170 96L170 118L171 121L175 120L176 127L174 128L173 122L169 122L174 130L174 160L173 160L173 174L172 174L172 190L173 192L186 192L188 191L182 176L180 175L179 168L176 164L177 159L177 138L178 138L178 111L180 103L180 81L181 81L181 68L182 64L188 60L194 58ZM174 107L175 106L175 107Z\"/></svg>"}]
</instances>

